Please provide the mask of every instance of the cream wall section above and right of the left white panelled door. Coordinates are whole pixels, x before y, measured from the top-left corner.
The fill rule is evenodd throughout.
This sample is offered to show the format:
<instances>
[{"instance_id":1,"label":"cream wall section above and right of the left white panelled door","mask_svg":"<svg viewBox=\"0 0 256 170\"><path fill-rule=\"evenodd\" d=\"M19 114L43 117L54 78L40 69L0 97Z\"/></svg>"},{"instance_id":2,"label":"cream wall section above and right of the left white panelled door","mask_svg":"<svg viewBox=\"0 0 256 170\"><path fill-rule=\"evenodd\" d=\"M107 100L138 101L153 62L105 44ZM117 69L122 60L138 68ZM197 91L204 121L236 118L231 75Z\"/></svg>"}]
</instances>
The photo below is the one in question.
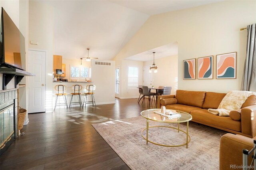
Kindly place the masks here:
<instances>
[{"instance_id":1,"label":"cream wall section above and right of the left white panelled door","mask_svg":"<svg viewBox=\"0 0 256 170\"><path fill-rule=\"evenodd\" d=\"M46 51L46 112L52 111L52 70L53 70L53 24L54 10L52 6L40 1L29 1L29 44L30 49Z\"/></svg>"}]
</instances>

